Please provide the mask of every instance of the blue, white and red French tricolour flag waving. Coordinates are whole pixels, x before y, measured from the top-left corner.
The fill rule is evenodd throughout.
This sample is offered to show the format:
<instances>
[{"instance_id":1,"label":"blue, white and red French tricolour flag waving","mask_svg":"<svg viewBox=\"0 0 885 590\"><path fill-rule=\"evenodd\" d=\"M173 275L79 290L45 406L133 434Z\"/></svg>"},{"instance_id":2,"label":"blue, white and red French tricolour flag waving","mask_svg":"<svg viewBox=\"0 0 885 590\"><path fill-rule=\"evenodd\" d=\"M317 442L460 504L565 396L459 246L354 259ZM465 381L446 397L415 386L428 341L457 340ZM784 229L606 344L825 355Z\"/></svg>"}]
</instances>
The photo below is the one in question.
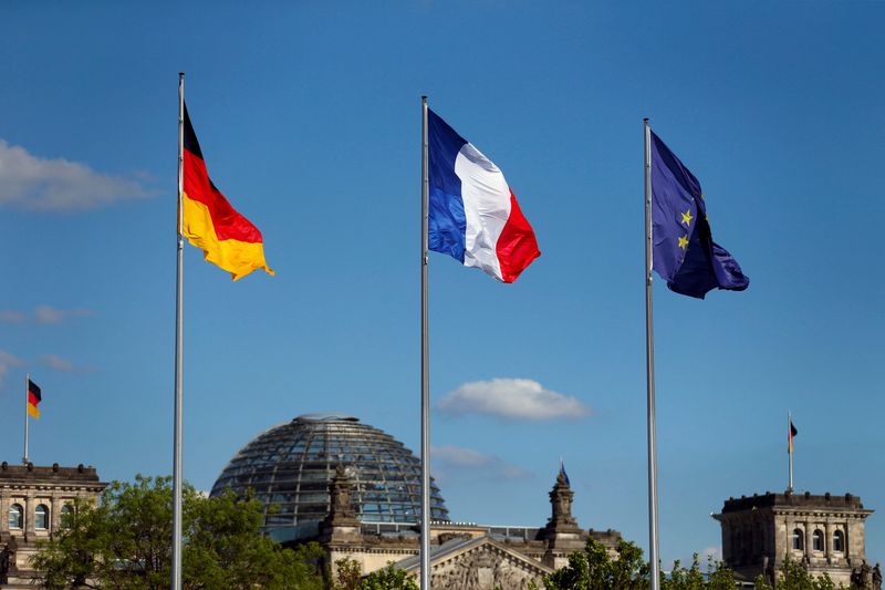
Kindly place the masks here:
<instances>
[{"instance_id":1,"label":"blue, white and red French tricolour flag waving","mask_svg":"<svg viewBox=\"0 0 885 590\"><path fill-rule=\"evenodd\" d=\"M429 108L427 132L429 248L513 282L541 251L504 175Z\"/></svg>"}]
</instances>

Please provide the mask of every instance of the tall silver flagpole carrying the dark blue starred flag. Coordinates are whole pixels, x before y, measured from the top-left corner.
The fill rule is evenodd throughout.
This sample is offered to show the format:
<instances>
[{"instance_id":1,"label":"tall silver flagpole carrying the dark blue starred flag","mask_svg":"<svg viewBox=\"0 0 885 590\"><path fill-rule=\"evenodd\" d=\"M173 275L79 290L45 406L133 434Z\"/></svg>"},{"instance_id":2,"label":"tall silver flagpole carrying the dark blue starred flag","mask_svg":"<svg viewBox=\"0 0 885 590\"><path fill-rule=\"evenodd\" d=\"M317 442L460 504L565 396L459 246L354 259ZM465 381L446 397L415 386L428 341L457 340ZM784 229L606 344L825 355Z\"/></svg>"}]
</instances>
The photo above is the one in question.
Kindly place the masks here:
<instances>
[{"instance_id":1,"label":"tall silver flagpole carrying the dark blue starred flag","mask_svg":"<svg viewBox=\"0 0 885 590\"><path fill-rule=\"evenodd\" d=\"M655 448L655 338L652 329L652 130L645 126L645 369L648 390L648 561L652 590L660 586L657 544L657 449Z\"/></svg>"}]
</instances>

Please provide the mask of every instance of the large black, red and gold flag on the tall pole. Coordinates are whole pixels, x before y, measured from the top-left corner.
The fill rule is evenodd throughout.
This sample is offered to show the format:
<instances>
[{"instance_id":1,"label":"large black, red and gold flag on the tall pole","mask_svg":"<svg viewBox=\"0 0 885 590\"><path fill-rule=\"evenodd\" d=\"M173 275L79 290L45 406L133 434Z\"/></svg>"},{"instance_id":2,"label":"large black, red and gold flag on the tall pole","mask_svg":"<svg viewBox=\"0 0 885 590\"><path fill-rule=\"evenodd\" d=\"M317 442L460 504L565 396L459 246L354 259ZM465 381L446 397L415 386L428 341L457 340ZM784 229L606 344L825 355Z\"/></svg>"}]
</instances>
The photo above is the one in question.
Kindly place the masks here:
<instances>
[{"instance_id":1,"label":"large black, red and gold flag on the tall pole","mask_svg":"<svg viewBox=\"0 0 885 590\"><path fill-rule=\"evenodd\" d=\"M264 261L261 231L230 206L206 172L202 151L185 106L184 234L209 262L241 279L256 269L273 271Z\"/></svg>"}]
</instances>

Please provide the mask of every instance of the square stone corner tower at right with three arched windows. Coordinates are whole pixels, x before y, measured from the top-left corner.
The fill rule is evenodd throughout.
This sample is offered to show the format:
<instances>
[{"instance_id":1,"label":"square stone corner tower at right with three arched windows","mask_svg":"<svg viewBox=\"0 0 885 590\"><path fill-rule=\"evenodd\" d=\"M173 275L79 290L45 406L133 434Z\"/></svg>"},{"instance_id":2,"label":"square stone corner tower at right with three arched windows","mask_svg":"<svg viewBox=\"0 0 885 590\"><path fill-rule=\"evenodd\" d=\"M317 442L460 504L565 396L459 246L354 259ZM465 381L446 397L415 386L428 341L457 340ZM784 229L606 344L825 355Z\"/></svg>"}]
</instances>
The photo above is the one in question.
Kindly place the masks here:
<instances>
[{"instance_id":1,"label":"square stone corner tower at right with three arched windows","mask_svg":"<svg viewBox=\"0 0 885 590\"><path fill-rule=\"evenodd\" d=\"M766 493L729 498L712 517L721 524L722 559L746 581L773 580L787 556L815 576L824 572L848 587L872 568L866 563L864 525L873 510L851 494Z\"/></svg>"}]
</instances>

